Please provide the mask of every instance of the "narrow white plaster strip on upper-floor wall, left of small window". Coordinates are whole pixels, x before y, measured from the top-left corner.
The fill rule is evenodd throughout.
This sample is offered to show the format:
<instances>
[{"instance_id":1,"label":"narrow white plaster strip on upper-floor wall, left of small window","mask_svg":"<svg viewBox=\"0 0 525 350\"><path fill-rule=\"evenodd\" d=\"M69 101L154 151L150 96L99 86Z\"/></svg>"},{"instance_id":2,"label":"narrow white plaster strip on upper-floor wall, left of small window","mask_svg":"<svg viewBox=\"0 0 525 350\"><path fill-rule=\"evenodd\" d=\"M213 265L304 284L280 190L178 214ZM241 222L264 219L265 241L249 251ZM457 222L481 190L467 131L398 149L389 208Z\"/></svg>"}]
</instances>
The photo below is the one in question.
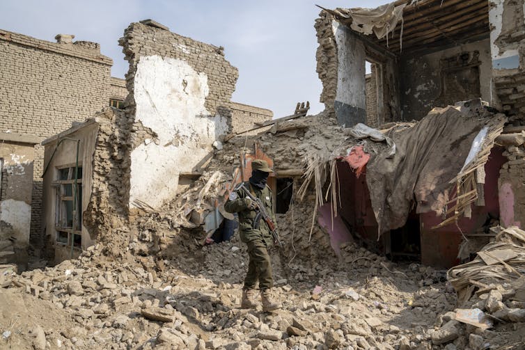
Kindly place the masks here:
<instances>
[{"instance_id":1,"label":"narrow white plaster strip on upper-floor wall, left of small window","mask_svg":"<svg viewBox=\"0 0 525 350\"><path fill-rule=\"evenodd\" d=\"M332 22L338 70L336 100L366 110L365 47L345 26Z\"/></svg>"}]
</instances>

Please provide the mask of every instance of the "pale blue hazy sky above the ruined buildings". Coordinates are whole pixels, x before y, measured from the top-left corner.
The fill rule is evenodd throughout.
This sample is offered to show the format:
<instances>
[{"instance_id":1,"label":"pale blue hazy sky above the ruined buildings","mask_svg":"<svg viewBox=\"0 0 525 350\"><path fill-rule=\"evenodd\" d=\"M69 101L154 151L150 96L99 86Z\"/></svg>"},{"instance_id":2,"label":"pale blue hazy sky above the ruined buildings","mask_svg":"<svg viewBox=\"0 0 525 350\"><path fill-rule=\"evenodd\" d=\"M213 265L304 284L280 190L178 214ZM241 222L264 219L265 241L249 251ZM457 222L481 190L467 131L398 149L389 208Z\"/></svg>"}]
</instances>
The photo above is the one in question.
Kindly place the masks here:
<instances>
[{"instance_id":1,"label":"pale blue hazy sky above the ruined buildings","mask_svg":"<svg viewBox=\"0 0 525 350\"><path fill-rule=\"evenodd\" d=\"M310 101L310 114L324 109L315 72L318 47L313 24L324 8L375 8L386 0L0 0L0 29L54 42L58 33L100 43L113 59L111 75L124 78L118 38L131 22L154 19L180 35L224 46L239 69L232 100L293 113Z\"/></svg>"}]
</instances>

